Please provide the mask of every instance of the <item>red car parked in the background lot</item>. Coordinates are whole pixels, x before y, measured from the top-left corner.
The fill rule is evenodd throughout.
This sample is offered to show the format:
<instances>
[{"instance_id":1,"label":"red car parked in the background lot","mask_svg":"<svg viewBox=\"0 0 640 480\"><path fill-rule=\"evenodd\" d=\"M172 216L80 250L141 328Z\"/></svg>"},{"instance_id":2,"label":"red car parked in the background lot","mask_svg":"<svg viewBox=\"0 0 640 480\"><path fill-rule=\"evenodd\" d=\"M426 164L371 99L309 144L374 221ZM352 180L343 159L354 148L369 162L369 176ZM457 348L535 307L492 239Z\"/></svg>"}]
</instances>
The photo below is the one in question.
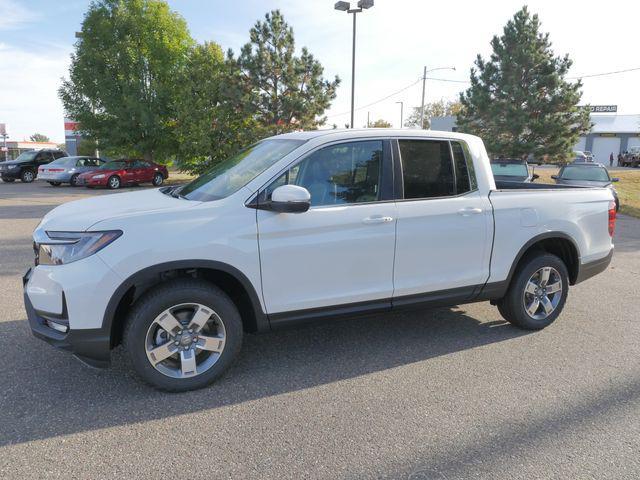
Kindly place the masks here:
<instances>
[{"instance_id":1,"label":"red car parked in the background lot","mask_svg":"<svg viewBox=\"0 0 640 480\"><path fill-rule=\"evenodd\" d=\"M77 184L114 190L122 185L139 183L152 183L155 187L159 187L167 177L169 172L164 165L145 160L114 160L105 163L97 170L81 174Z\"/></svg>"}]
</instances>

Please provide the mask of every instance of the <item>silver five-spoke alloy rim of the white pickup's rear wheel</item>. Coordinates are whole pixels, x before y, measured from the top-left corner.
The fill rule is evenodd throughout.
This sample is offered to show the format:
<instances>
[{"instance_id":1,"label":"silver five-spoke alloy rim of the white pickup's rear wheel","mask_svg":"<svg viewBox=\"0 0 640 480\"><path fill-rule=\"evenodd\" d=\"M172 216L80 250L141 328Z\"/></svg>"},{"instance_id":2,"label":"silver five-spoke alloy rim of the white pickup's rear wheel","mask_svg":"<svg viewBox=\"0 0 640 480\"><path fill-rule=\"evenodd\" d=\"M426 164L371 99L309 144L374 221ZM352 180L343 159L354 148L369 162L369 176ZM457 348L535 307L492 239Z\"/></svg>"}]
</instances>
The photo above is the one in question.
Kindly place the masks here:
<instances>
[{"instance_id":1,"label":"silver five-spoke alloy rim of the white pickup's rear wheel","mask_svg":"<svg viewBox=\"0 0 640 480\"><path fill-rule=\"evenodd\" d=\"M542 267L531 275L523 293L524 309L534 320L551 315L562 299L562 277L553 267Z\"/></svg>"}]
</instances>

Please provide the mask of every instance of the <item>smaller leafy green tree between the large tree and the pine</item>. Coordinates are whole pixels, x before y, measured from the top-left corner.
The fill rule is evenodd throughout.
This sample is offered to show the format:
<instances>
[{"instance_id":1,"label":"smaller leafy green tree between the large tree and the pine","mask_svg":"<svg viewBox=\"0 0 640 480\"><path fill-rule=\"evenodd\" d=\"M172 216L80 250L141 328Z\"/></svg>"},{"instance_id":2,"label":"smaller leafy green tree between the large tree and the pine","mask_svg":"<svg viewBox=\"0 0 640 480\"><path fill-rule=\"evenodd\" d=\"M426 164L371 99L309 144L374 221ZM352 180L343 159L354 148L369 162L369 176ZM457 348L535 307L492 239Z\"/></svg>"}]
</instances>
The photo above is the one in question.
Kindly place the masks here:
<instances>
[{"instance_id":1,"label":"smaller leafy green tree between the large tree and the pine","mask_svg":"<svg viewBox=\"0 0 640 480\"><path fill-rule=\"evenodd\" d=\"M251 94L234 61L213 43L194 47L176 98L178 166L202 173L256 139Z\"/></svg>"}]
</instances>

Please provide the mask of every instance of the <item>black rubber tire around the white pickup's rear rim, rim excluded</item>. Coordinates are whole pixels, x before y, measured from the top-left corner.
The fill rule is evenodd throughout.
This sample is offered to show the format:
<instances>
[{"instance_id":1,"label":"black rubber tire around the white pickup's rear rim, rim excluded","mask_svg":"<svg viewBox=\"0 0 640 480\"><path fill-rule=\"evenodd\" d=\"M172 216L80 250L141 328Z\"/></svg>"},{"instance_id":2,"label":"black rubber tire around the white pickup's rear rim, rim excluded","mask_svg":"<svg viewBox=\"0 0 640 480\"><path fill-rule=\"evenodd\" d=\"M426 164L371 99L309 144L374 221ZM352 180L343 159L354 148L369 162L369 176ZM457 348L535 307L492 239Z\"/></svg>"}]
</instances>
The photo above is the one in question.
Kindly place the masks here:
<instances>
[{"instance_id":1,"label":"black rubber tire around the white pickup's rear rim, rim excluded","mask_svg":"<svg viewBox=\"0 0 640 480\"><path fill-rule=\"evenodd\" d=\"M547 318L535 320L529 316L524 305L524 289L531 276L543 267L555 268L562 279L562 296L556 309ZM540 253L525 259L522 267L518 269L513 279L501 313L506 314L510 318L506 318L509 322L521 328L529 330L540 330L551 325L562 313L562 309L567 301L569 291L569 272L564 262L555 255L550 253Z\"/></svg>"}]
</instances>

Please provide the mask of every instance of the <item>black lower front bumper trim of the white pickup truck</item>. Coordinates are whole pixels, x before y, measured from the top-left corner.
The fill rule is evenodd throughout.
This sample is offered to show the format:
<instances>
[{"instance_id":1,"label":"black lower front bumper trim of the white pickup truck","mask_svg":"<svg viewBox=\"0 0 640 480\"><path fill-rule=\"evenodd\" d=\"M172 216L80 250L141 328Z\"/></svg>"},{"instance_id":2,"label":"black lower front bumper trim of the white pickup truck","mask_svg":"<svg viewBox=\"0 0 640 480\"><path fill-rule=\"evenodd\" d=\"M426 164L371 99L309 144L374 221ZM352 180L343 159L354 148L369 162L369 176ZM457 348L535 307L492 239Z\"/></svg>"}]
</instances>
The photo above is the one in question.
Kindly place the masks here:
<instances>
[{"instance_id":1,"label":"black lower front bumper trim of the white pickup truck","mask_svg":"<svg viewBox=\"0 0 640 480\"><path fill-rule=\"evenodd\" d=\"M26 288L32 269L29 269L22 279ZM61 314L51 314L36 310L29 295L24 292L24 307L27 311L29 326L33 335L61 350L67 350L78 359L97 368L106 368L110 364L110 335L103 328L68 329L66 332L59 330L60 326L69 325L66 302L63 297L63 309ZM52 327L58 326L58 329Z\"/></svg>"}]
</instances>

